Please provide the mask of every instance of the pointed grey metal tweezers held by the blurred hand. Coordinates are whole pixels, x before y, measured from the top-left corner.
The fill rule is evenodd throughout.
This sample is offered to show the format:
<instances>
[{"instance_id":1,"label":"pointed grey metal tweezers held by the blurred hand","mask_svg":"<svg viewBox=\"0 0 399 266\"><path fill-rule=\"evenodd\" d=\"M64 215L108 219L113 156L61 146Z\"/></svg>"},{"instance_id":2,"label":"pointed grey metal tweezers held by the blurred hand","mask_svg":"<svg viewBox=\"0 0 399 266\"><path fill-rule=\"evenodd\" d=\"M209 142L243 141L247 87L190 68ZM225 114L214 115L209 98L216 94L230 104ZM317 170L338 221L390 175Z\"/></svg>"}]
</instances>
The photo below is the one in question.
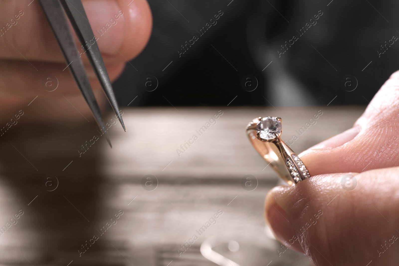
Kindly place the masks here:
<instances>
[{"instance_id":1,"label":"pointed grey metal tweezers held by the blurred hand","mask_svg":"<svg viewBox=\"0 0 399 266\"><path fill-rule=\"evenodd\" d=\"M97 124L101 128L101 131L104 132L104 135L112 148L111 141L107 134L107 128L104 126L103 118L101 117L99 105L94 97L89 78L86 75L85 67L83 66L79 51L75 45L75 41L73 40L72 33L69 30L67 18L71 22L83 49L85 49L85 53L87 52L87 58L90 61L91 67L94 69L97 79L99 80L101 87L103 87L105 95L117 114L120 124L122 124L124 131L126 131L122 116L119 112L117 100L115 99L111 81L109 80L107 70L105 69L100 49L96 41L94 41L94 44L91 44L90 42L94 39L94 33L93 30L91 30L83 4L81 0L39 0L39 2L51 29L54 32L59 47L62 50L69 70L89 105Z\"/></svg>"}]
</instances>

